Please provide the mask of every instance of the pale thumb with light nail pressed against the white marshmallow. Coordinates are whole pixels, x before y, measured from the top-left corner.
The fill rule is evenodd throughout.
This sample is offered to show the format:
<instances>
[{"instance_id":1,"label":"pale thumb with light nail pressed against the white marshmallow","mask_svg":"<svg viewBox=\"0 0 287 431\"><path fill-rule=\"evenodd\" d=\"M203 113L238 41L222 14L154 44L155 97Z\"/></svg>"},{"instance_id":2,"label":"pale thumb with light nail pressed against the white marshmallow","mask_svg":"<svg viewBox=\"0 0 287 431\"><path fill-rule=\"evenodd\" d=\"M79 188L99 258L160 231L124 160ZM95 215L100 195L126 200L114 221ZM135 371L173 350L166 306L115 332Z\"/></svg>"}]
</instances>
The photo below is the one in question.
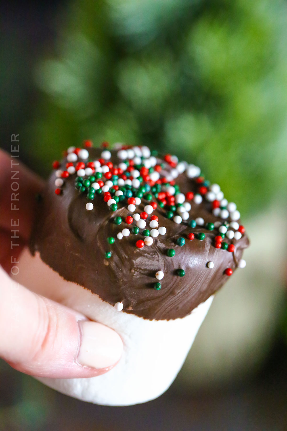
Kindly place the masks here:
<instances>
[{"instance_id":1,"label":"pale thumb with light nail pressed against the white marshmallow","mask_svg":"<svg viewBox=\"0 0 287 431\"><path fill-rule=\"evenodd\" d=\"M26 374L83 378L120 359L120 336L105 325L36 295L0 268L0 357Z\"/></svg>"}]
</instances>

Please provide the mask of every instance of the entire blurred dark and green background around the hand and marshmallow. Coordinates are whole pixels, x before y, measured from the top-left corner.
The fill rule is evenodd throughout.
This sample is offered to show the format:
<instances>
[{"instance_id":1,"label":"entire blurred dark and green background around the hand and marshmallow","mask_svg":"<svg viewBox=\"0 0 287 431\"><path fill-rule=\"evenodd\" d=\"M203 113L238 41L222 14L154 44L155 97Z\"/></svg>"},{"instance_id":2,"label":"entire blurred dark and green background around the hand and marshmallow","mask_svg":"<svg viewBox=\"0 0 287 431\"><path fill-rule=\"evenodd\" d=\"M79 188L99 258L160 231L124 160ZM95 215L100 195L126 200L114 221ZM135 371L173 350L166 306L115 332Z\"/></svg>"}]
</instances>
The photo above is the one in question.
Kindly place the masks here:
<instances>
[{"instance_id":1,"label":"entire blurred dark and green background around the hand and marshmallow","mask_svg":"<svg viewBox=\"0 0 287 431\"><path fill-rule=\"evenodd\" d=\"M160 400L89 406L2 363L0 431L287 429L286 1L12 2L0 11L1 147L19 133L22 160L42 176L84 139L176 153L237 203L252 244L249 269L216 297Z\"/></svg>"}]
</instances>

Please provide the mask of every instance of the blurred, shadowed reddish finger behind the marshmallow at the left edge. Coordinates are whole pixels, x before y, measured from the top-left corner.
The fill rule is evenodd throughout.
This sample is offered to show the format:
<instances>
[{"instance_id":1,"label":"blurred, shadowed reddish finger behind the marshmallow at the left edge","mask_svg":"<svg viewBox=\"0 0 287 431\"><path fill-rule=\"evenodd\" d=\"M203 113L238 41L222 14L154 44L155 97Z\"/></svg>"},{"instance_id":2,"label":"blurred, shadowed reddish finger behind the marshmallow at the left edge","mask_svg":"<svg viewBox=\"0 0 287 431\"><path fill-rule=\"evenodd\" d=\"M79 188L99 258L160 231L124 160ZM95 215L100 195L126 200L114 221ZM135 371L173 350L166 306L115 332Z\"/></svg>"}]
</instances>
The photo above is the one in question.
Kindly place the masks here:
<instances>
[{"instance_id":1,"label":"blurred, shadowed reddish finger behind the marshmallow at the left edge","mask_svg":"<svg viewBox=\"0 0 287 431\"><path fill-rule=\"evenodd\" d=\"M0 227L11 231L11 219L14 222L19 219L19 227L14 229L19 229L19 236L28 241L34 222L35 195L42 188L43 181L37 175L22 165L18 158L13 159L0 150ZM11 204L12 208L19 209L11 209Z\"/></svg>"}]
</instances>

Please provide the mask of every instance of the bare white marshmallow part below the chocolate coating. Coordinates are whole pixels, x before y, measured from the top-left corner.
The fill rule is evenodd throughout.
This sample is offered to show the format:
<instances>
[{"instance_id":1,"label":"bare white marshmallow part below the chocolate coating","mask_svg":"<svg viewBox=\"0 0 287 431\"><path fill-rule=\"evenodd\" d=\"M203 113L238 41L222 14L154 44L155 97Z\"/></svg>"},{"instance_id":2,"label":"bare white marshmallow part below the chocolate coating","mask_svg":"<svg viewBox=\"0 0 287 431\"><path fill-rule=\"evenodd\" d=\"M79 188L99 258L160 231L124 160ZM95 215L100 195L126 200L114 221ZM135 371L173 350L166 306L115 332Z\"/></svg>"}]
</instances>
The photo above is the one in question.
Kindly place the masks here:
<instances>
[{"instance_id":1,"label":"bare white marshmallow part below the chocolate coating","mask_svg":"<svg viewBox=\"0 0 287 431\"><path fill-rule=\"evenodd\" d=\"M83 287L65 281L28 249L22 252L14 277L30 290L73 308L117 331L123 356L106 374L93 378L39 378L63 394L105 406L145 403L163 394L182 367L213 297L190 315L175 320L146 320L117 311Z\"/></svg>"}]
</instances>

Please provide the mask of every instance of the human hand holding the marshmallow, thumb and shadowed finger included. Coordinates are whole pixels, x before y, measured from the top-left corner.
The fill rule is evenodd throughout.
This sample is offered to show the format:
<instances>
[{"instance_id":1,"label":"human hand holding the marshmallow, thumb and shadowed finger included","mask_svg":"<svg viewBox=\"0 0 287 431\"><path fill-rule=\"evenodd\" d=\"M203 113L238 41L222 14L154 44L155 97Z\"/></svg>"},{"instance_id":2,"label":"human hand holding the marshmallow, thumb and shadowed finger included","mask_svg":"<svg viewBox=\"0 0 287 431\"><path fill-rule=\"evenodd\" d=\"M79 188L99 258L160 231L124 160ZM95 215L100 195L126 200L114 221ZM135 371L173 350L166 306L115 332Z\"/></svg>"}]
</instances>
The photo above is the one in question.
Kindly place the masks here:
<instances>
[{"instance_id":1,"label":"human hand holding the marshmallow, thumb and shadowed finger included","mask_svg":"<svg viewBox=\"0 0 287 431\"><path fill-rule=\"evenodd\" d=\"M11 180L12 170L19 170L19 179ZM18 191L11 190L13 181L19 183ZM12 267L17 270L19 254L28 243L35 194L42 187L40 178L25 166L14 165L11 169L11 158L0 150L0 357L13 368L38 377L100 375L120 359L120 336L105 325L34 294L9 277ZM18 192L19 201L12 202L11 194ZM11 210L11 203L19 210ZM19 227L11 227L18 224L18 219Z\"/></svg>"}]
</instances>

